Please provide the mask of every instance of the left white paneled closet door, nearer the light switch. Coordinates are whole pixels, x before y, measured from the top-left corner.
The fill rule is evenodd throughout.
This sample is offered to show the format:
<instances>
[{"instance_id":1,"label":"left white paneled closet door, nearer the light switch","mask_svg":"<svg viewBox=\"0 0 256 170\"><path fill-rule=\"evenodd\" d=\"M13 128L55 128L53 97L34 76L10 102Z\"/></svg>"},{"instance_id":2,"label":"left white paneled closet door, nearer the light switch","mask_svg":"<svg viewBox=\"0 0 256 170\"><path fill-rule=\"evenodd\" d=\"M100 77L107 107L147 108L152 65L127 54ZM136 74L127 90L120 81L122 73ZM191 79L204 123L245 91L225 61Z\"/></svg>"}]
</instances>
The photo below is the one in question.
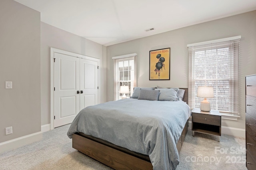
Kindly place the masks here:
<instances>
[{"instance_id":1,"label":"left white paneled closet door, nearer the light switch","mask_svg":"<svg viewBox=\"0 0 256 170\"><path fill-rule=\"evenodd\" d=\"M54 53L54 128L71 123L80 111L80 59Z\"/></svg>"}]
</instances>

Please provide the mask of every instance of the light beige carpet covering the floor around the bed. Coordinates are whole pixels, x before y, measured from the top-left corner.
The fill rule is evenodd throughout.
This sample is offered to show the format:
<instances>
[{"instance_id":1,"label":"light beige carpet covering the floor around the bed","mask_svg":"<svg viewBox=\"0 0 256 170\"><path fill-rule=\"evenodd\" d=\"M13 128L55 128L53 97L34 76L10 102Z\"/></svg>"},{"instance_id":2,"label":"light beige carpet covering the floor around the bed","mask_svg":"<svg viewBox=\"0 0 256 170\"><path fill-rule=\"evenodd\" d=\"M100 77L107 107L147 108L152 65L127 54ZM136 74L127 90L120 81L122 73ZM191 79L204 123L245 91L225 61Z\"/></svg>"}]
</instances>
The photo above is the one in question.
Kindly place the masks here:
<instances>
[{"instance_id":1,"label":"light beige carpet covering the floor around the bed","mask_svg":"<svg viewBox=\"0 0 256 170\"><path fill-rule=\"evenodd\" d=\"M112 170L72 148L70 125L43 133L41 141L0 154L0 170ZM177 170L246 170L245 140L188 130ZM225 151L226 150L226 151Z\"/></svg>"}]
</instances>

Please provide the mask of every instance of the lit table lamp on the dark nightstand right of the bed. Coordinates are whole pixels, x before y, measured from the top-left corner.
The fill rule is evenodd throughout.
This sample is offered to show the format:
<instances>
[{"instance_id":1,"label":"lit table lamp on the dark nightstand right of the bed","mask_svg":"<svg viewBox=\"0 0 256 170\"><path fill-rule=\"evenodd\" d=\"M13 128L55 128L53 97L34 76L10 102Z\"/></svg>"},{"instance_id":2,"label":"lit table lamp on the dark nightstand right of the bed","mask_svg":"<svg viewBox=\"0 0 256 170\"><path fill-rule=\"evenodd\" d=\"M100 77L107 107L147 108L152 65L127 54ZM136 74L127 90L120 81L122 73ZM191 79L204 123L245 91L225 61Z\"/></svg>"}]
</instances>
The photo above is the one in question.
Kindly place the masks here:
<instances>
[{"instance_id":1,"label":"lit table lamp on the dark nightstand right of the bed","mask_svg":"<svg viewBox=\"0 0 256 170\"><path fill-rule=\"evenodd\" d=\"M212 86L198 86L197 97L204 98L200 104L201 111L211 111L210 102L206 98L214 98Z\"/></svg>"}]
</instances>

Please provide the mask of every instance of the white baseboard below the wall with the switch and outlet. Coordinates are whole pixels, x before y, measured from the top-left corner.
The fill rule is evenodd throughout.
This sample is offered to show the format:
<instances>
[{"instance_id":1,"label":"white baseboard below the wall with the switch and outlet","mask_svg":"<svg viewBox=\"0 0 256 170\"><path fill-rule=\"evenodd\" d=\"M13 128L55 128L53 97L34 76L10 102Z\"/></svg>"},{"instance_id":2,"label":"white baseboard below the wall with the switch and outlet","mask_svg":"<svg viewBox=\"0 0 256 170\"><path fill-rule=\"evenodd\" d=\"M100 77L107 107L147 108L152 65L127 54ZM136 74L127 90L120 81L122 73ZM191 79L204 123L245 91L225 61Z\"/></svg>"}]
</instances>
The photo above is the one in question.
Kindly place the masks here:
<instances>
[{"instance_id":1,"label":"white baseboard below the wall with the switch and outlet","mask_svg":"<svg viewBox=\"0 0 256 170\"><path fill-rule=\"evenodd\" d=\"M8 150L16 149L24 145L39 141L42 139L42 132L32 133L23 137L12 139L10 141L0 143L0 153Z\"/></svg>"}]
</instances>

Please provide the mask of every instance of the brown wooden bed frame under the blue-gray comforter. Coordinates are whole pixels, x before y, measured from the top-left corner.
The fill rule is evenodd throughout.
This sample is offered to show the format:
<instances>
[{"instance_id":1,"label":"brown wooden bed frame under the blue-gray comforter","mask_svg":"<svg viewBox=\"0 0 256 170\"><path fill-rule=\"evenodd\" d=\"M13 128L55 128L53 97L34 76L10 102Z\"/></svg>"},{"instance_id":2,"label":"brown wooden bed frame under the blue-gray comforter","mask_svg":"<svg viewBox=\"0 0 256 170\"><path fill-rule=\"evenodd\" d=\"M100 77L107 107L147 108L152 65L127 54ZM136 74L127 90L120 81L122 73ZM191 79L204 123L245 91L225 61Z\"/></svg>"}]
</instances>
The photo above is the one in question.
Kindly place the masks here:
<instances>
[{"instance_id":1,"label":"brown wooden bed frame under the blue-gray comforter","mask_svg":"<svg viewBox=\"0 0 256 170\"><path fill-rule=\"evenodd\" d=\"M183 101L188 103L188 88L181 89L185 90ZM179 153L187 131L188 121L176 145ZM153 170L148 155L132 152L84 133L72 135L72 147L115 170Z\"/></svg>"}]
</instances>

